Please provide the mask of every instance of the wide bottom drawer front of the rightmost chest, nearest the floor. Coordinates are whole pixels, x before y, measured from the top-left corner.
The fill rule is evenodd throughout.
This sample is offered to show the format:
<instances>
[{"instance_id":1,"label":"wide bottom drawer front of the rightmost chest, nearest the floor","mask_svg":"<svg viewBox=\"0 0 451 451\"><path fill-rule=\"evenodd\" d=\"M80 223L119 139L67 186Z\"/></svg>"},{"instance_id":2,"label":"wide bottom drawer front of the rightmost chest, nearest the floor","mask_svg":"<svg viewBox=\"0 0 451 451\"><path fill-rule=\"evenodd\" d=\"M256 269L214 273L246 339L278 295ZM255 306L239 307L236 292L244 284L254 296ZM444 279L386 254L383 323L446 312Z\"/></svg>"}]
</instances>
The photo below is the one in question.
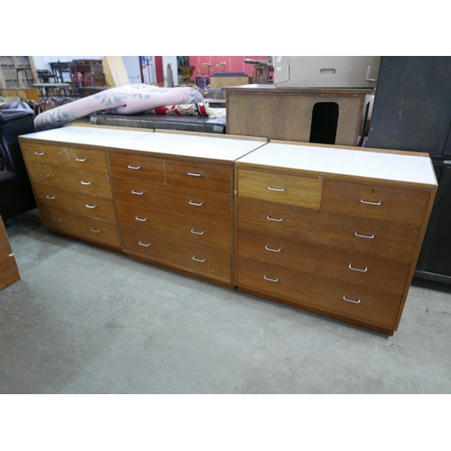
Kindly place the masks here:
<instances>
[{"instance_id":1,"label":"wide bottom drawer front of the rightmost chest, nearest the floor","mask_svg":"<svg viewBox=\"0 0 451 451\"><path fill-rule=\"evenodd\" d=\"M373 325L394 327L400 295L267 262L238 258L238 287ZM348 300L345 300L348 299Z\"/></svg>"}]
</instances>

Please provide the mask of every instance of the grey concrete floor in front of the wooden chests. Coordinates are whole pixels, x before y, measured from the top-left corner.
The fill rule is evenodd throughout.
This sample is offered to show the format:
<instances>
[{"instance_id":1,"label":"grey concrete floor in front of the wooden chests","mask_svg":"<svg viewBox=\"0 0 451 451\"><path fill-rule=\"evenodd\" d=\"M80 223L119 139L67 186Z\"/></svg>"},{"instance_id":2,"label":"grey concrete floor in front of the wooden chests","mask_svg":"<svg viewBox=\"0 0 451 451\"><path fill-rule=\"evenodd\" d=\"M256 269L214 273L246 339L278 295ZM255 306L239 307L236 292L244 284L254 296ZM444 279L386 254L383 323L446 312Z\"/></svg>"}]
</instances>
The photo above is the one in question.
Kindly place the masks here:
<instances>
[{"instance_id":1,"label":"grey concrete floor in front of the wooden chests","mask_svg":"<svg viewBox=\"0 0 451 451\"><path fill-rule=\"evenodd\" d=\"M450 393L451 287L414 280L394 336L5 221L0 393Z\"/></svg>"}]
</instances>

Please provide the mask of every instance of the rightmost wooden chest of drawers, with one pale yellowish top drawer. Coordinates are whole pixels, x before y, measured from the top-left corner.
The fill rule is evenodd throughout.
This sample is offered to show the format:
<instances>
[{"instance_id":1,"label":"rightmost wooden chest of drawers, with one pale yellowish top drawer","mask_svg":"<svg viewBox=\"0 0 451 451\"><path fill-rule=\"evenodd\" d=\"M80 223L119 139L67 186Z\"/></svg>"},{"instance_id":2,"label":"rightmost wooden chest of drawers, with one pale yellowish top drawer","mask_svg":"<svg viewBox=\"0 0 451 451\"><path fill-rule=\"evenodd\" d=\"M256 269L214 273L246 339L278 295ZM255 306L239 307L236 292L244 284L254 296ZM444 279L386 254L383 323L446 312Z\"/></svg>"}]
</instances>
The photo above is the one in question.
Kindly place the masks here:
<instances>
[{"instance_id":1,"label":"rightmost wooden chest of drawers, with one pale yellowish top drawer","mask_svg":"<svg viewBox=\"0 0 451 451\"><path fill-rule=\"evenodd\" d=\"M236 161L238 289L392 335L437 189L430 164L276 142Z\"/></svg>"}]
</instances>

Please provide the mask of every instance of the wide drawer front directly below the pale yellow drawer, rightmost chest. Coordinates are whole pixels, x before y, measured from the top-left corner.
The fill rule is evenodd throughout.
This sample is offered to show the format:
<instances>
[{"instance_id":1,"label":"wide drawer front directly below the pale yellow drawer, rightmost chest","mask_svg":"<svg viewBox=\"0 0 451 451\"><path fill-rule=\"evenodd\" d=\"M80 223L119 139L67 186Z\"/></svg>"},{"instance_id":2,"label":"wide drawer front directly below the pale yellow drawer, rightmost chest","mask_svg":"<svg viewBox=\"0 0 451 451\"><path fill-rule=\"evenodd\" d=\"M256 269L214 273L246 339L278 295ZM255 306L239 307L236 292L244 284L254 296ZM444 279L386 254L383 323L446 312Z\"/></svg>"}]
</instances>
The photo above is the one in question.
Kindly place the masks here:
<instances>
[{"instance_id":1,"label":"wide drawer front directly below the pale yellow drawer, rightmost chest","mask_svg":"<svg viewBox=\"0 0 451 451\"><path fill-rule=\"evenodd\" d=\"M419 227L239 198L238 226L410 261Z\"/></svg>"}]
</instances>

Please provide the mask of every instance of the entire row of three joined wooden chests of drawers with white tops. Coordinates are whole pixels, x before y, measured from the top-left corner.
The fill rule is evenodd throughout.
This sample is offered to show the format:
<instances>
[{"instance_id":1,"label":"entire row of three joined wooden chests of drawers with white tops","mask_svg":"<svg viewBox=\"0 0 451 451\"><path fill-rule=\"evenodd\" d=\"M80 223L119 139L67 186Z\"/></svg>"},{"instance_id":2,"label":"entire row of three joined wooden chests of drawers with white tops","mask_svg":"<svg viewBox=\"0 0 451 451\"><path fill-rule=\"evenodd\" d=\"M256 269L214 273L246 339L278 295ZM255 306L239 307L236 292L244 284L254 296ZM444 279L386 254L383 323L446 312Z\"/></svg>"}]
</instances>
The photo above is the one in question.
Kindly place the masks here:
<instances>
[{"instance_id":1,"label":"entire row of three joined wooden chests of drawers with white tops","mask_svg":"<svg viewBox=\"0 0 451 451\"><path fill-rule=\"evenodd\" d=\"M428 154L70 126L19 137L43 226L392 335L437 179Z\"/></svg>"}]
</instances>

